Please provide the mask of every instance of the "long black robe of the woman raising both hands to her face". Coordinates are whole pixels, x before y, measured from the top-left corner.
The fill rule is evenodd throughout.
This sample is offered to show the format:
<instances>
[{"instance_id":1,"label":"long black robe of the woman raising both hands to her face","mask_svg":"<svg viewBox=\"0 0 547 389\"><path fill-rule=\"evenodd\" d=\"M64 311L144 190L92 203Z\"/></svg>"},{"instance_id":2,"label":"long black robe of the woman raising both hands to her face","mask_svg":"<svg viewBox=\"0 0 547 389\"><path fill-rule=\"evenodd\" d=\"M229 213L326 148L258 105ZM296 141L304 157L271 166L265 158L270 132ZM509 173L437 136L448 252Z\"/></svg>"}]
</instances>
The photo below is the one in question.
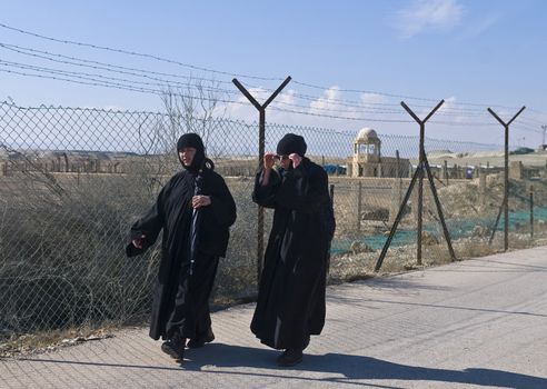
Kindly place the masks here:
<instances>
[{"instance_id":1,"label":"long black robe of the woman raising both hands to her face","mask_svg":"<svg viewBox=\"0 0 547 389\"><path fill-rule=\"evenodd\" d=\"M276 349L305 348L325 325L328 177L307 158L285 173L272 170L266 187L261 176L252 199L275 212L251 331Z\"/></svg>"}]
</instances>

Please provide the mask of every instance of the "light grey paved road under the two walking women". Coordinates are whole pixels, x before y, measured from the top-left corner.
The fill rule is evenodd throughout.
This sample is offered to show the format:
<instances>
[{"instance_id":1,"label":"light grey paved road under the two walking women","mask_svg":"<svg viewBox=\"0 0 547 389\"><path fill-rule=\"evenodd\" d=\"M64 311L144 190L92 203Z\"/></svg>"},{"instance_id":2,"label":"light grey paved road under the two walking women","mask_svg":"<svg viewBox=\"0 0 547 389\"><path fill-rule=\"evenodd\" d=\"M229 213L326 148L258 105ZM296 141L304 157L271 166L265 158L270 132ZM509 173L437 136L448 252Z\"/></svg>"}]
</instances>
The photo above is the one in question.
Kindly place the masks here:
<instances>
[{"instance_id":1,"label":"light grey paved road under the two walking women","mask_svg":"<svg viewBox=\"0 0 547 389\"><path fill-rule=\"evenodd\" d=\"M145 329L0 362L1 388L547 388L547 247L330 287L301 365L213 316L216 342L161 353Z\"/></svg>"}]
</instances>

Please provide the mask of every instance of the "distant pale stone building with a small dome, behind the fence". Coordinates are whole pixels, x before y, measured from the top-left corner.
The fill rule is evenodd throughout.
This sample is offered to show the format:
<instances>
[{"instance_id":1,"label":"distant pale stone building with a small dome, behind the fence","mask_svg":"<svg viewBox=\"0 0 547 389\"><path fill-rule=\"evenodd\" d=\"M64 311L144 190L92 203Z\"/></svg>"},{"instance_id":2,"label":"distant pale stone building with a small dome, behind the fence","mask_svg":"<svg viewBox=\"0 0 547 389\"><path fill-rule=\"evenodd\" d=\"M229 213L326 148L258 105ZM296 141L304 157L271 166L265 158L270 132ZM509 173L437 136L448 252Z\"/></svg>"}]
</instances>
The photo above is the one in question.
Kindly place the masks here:
<instances>
[{"instance_id":1,"label":"distant pale stone building with a small dome, behind the fence","mask_svg":"<svg viewBox=\"0 0 547 389\"><path fill-rule=\"evenodd\" d=\"M408 177L410 161L381 156L381 140L371 128L364 128L354 141L354 156L348 157L350 177Z\"/></svg>"}]
</instances>

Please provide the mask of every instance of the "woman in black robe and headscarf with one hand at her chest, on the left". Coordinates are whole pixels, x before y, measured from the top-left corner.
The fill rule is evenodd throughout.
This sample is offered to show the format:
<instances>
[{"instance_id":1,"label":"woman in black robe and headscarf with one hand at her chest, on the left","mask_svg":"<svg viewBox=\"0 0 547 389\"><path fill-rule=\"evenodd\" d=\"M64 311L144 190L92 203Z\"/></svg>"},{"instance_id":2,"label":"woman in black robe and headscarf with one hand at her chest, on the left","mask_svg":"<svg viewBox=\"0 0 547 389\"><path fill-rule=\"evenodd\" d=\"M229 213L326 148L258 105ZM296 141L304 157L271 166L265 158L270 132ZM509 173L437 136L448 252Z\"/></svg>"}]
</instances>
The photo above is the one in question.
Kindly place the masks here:
<instances>
[{"instance_id":1,"label":"woman in black robe and headscarf with one hand at her chest, on the left","mask_svg":"<svg viewBox=\"0 0 547 389\"><path fill-rule=\"evenodd\" d=\"M222 177L212 170L212 161L206 158L198 134L180 137L177 150L183 170L169 180L153 207L131 227L127 256L145 252L163 229L150 337L161 337L166 340L161 349L182 360L187 339L190 348L215 339L208 299L219 258L226 256L229 227L236 221L236 203ZM199 236L191 258L195 210L200 212Z\"/></svg>"}]
</instances>

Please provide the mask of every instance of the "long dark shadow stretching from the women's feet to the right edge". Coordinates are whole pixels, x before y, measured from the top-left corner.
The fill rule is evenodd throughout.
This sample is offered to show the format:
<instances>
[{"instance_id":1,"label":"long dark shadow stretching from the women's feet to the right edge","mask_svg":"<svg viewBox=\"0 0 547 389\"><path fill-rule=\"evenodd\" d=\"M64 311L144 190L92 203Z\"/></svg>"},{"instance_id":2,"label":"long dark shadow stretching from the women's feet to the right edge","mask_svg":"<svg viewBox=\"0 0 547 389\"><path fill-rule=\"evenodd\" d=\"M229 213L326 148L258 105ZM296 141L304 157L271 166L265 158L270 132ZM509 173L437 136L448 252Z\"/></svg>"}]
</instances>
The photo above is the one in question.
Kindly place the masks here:
<instances>
[{"instance_id":1,"label":"long dark shadow stretching from the women's feet to the right edge","mask_svg":"<svg viewBox=\"0 0 547 389\"><path fill-rule=\"evenodd\" d=\"M306 355L302 363L290 370L331 373L334 377L310 379L295 375L284 375L287 369L279 368L275 363L279 351L255 349L222 343L209 345L203 349L189 350L191 360L185 362L187 370L201 370L206 366L220 368L251 368L274 369L275 377L289 379L332 381L344 383L349 380L424 380L455 383L470 383L479 386L496 386L500 388L547 388L547 378L520 375L503 370L475 369L448 370L422 368L408 365L392 363L386 360L342 355L327 353L325 356ZM221 371L226 373L227 371ZM236 375L265 376L262 371L235 371ZM266 375L270 376L270 375ZM348 382L349 383L349 382ZM351 382L358 383L358 382ZM365 382L364 382L365 385ZM370 386L370 383L367 383Z\"/></svg>"}]
</instances>

